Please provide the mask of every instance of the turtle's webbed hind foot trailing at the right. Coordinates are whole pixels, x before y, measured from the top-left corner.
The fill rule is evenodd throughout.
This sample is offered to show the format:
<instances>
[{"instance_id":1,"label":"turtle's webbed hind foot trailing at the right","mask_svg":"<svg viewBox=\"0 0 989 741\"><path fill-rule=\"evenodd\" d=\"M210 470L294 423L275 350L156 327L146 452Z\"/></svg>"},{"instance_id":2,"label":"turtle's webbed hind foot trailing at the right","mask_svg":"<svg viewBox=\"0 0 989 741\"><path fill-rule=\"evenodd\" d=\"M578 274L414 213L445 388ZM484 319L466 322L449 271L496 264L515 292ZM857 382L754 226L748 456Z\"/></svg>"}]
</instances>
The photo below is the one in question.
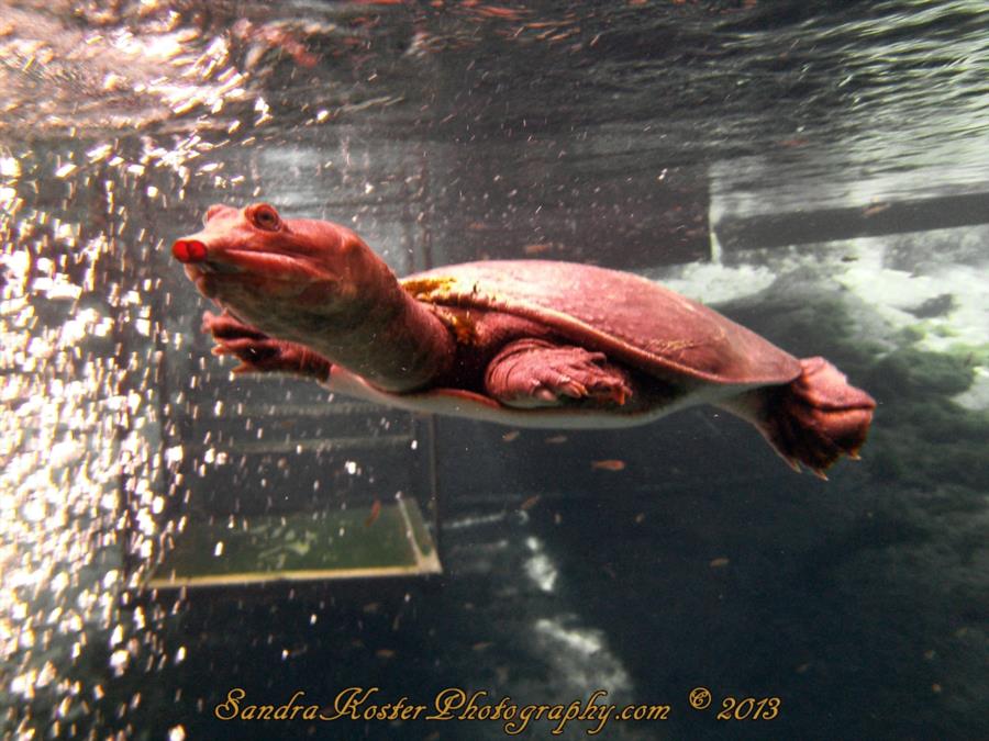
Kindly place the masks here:
<instances>
[{"instance_id":1,"label":"turtle's webbed hind foot trailing at the right","mask_svg":"<svg viewBox=\"0 0 989 741\"><path fill-rule=\"evenodd\" d=\"M802 463L826 479L825 469L842 456L858 459L876 402L824 358L800 366L789 384L749 392L731 411L752 422L793 470Z\"/></svg>"}]
</instances>

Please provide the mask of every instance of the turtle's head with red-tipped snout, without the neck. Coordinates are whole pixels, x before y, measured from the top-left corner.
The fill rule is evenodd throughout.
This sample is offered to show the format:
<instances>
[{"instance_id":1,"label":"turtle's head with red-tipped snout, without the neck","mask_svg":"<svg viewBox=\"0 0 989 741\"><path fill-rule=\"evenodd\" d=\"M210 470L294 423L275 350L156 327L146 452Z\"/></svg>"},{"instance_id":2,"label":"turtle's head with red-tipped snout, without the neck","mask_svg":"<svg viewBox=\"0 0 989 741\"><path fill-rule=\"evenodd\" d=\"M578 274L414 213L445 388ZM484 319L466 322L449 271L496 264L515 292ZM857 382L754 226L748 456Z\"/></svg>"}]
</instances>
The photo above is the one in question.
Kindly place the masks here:
<instances>
[{"instance_id":1,"label":"turtle's head with red-tipped snout, without the neck","mask_svg":"<svg viewBox=\"0 0 989 741\"><path fill-rule=\"evenodd\" d=\"M395 281L352 231L284 220L267 203L210 206L203 228L176 240L171 254L200 293L270 333L360 311L387 279L382 268Z\"/></svg>"}]
</instances>

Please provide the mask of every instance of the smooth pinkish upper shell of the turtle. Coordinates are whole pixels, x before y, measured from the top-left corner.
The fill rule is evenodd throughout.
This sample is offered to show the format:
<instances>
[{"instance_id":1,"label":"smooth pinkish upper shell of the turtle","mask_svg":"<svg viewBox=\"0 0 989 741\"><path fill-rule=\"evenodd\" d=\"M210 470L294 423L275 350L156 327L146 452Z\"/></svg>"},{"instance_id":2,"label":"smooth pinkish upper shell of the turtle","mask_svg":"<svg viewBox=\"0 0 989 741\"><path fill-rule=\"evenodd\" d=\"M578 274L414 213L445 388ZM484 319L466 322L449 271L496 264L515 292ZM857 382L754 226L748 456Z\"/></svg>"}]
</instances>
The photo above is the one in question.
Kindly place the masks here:
<instances>
[{"instance_id":1,"label":"smooth pinkish upper shell of the turtle","mask_svg":"<svg viewBox=\"0 0 989 741\"><path fill-rule=\"evenodd\" d=\"M718 312L640 276L575 262L490 260L409 276L440 306L543 323L570 341L660 377L770 385L800 372L793 356Z\"/></svg>"}]
</instances>

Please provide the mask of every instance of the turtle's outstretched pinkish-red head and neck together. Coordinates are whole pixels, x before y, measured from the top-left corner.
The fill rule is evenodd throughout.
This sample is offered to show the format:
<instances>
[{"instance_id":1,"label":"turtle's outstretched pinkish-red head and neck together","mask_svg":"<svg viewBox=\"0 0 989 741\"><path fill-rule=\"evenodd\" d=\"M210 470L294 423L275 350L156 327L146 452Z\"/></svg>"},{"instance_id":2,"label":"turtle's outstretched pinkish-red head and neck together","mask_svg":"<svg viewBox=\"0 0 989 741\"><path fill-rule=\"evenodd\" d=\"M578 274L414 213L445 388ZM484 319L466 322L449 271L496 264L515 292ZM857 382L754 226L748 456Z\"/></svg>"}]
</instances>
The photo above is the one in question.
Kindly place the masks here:
<instances>
[{"instance_id":1,"label":"turtle's outstretched pinkish-red head and neck together","mask_svg":"<svg viewBox=\"0 0 989 741\"><path fill-rule=\"evenodd\" d=\"M421 388L452 362L446 327L336 224L286 221L265 203L214 205L204 228L171 251L196 288L241 323L303 345L381 389Z\"/></svg>"}]
</instances>

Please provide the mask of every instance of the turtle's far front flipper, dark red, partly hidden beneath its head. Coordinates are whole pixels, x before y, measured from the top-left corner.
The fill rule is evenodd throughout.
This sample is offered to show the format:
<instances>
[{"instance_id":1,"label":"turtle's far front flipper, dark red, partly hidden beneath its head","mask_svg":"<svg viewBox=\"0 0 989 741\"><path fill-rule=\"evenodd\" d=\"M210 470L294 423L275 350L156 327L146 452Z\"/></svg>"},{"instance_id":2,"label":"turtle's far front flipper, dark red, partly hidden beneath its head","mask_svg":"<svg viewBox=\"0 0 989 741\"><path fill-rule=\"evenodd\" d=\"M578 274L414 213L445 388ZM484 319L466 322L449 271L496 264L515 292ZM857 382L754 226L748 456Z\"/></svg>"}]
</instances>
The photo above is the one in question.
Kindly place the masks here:
<instances>
[{"instance_id":1,"label":"turtle's far front flipper, dark red, partly hidden beneath its head","mask_svg":"<svg viewBox=\"0 0 989 741\"><path fill-rule=\"evenodd\" d=\"M269 337L227 312L220 316L205 312L202 332L216 340L213 355L232 355L241 361L234 373L291 373L316 381L330 377L331 363L321 355L303 345Z\"/></svg>"}]
</instances>

